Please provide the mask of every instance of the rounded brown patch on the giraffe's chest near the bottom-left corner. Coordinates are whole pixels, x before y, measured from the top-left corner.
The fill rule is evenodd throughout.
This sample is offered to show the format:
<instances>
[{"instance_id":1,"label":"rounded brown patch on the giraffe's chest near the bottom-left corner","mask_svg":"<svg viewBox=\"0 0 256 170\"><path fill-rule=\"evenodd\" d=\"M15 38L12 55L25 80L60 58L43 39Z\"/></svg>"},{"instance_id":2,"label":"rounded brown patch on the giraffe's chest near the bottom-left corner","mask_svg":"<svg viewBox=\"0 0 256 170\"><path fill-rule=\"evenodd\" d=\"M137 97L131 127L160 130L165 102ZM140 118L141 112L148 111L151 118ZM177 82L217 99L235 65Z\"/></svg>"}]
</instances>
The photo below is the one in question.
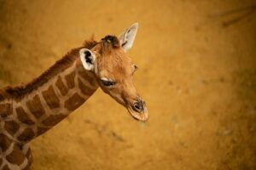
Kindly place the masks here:
<instances>
[{"instance_id":1,"label":"rounded brown patch on the giraffe's chest near the bottom-left corner","mask_svg":"<svg viewBox=\"0 0 256 170\"><path fill-rule=\"evenodd\" d=\"M22 151L15 145L14 150L12 153L6 156L6 159L12 164L20 165L25 160L25 156Z\"/></svg>"}]
</instances>

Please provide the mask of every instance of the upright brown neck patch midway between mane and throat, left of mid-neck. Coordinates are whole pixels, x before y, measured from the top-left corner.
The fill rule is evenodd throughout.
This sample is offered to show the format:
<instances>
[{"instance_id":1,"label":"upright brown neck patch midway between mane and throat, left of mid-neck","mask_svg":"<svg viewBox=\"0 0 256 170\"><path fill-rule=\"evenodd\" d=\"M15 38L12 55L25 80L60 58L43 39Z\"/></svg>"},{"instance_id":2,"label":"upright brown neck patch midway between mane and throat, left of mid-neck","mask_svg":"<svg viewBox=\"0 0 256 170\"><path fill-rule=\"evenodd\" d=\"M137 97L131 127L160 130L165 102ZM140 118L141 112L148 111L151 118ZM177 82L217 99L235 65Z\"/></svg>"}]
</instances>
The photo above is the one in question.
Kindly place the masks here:
<instances>
[{"instance_id":1,"label":"upright brown neck patch midway between mane and throat, left of mid-neck","mask_svg":"<svg viewBox=\"0 0 256 170\"><path fill-rule=\"evenodd\" d=\"M35 95L35 97L32 100L27 101L26 106L29 109L29 111L31 111L32 114L37 118L44 115L44 108L41 104L38 94Z\"/></svg>"}]
</instances>

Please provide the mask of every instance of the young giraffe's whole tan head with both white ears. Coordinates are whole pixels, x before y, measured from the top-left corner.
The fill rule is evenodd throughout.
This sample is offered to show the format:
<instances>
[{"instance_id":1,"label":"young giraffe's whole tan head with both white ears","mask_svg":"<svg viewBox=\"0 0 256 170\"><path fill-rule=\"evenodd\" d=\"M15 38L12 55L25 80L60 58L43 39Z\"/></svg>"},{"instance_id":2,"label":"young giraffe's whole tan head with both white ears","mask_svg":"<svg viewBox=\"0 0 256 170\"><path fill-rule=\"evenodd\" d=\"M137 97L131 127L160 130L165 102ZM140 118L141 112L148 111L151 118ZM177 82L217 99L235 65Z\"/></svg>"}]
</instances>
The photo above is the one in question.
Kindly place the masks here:
<instances>
[{"instance_id":1,"label":"young giraffe's whole tan head with both white ears","mask_svg":"<svg viewBox=\"0 0 256 170\"><path fill-rule=\"evenodd\" d=\"M137 34L138 24L130 26L119 37L106 36L91 49L80 49L80 59L87 71L96 75L102 90L119 104L124 105L131 116L140 121L148 119L144 100L133 84L132 76L137 66L127 56Z\"/></svg>"}]
</instances>

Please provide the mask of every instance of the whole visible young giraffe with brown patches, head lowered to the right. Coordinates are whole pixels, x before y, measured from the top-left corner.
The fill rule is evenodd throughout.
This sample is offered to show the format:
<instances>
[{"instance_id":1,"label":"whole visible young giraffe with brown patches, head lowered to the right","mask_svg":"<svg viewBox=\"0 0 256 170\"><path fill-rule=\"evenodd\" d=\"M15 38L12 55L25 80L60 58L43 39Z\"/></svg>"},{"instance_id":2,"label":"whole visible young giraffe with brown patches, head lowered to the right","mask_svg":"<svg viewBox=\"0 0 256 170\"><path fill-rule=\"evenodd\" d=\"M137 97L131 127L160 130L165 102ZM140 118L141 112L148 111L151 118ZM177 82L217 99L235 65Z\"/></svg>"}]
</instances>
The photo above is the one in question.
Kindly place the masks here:
<instances>
[{"instance_id":1,"label":"whole visible young giraffe with brown patches, head lowered to the right","mask_svg":"<svg viewBox=\"0 0 256 170\"><path fill-rule=\"evenodd\" d=\"M135 119L148 119L145 102L132 82L137 66L126 54L137 27L131 25L119 37L85 41L32 82L0 89L0 170L30 169L29 142L83 105L97 88Z\"/></svg>"}]
</instances>

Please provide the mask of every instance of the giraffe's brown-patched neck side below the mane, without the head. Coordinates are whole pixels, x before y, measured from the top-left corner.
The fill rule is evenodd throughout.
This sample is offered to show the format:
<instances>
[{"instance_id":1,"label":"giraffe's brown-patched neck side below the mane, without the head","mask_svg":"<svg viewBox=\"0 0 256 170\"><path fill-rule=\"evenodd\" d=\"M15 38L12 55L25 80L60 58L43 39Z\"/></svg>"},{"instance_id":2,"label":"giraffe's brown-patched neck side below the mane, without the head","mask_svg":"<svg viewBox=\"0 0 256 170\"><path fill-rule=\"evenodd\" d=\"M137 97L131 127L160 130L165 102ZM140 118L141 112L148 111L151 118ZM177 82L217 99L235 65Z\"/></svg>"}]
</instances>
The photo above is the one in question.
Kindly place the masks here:
<instances>
[{"instance_id":1,"label":"giraffe's brown-patched neck side below the mane, without the head","mask_svg":"<svg viewBox=\"0 0 256 170\"><path fill-rule=\"evenodd\" d=\"M85 71L78 58L30 94L13 100L13 114L2 123L4 133L19 143L27 143L84 104L98 87L94 74Z\"/></svg>"}]
</instances>

